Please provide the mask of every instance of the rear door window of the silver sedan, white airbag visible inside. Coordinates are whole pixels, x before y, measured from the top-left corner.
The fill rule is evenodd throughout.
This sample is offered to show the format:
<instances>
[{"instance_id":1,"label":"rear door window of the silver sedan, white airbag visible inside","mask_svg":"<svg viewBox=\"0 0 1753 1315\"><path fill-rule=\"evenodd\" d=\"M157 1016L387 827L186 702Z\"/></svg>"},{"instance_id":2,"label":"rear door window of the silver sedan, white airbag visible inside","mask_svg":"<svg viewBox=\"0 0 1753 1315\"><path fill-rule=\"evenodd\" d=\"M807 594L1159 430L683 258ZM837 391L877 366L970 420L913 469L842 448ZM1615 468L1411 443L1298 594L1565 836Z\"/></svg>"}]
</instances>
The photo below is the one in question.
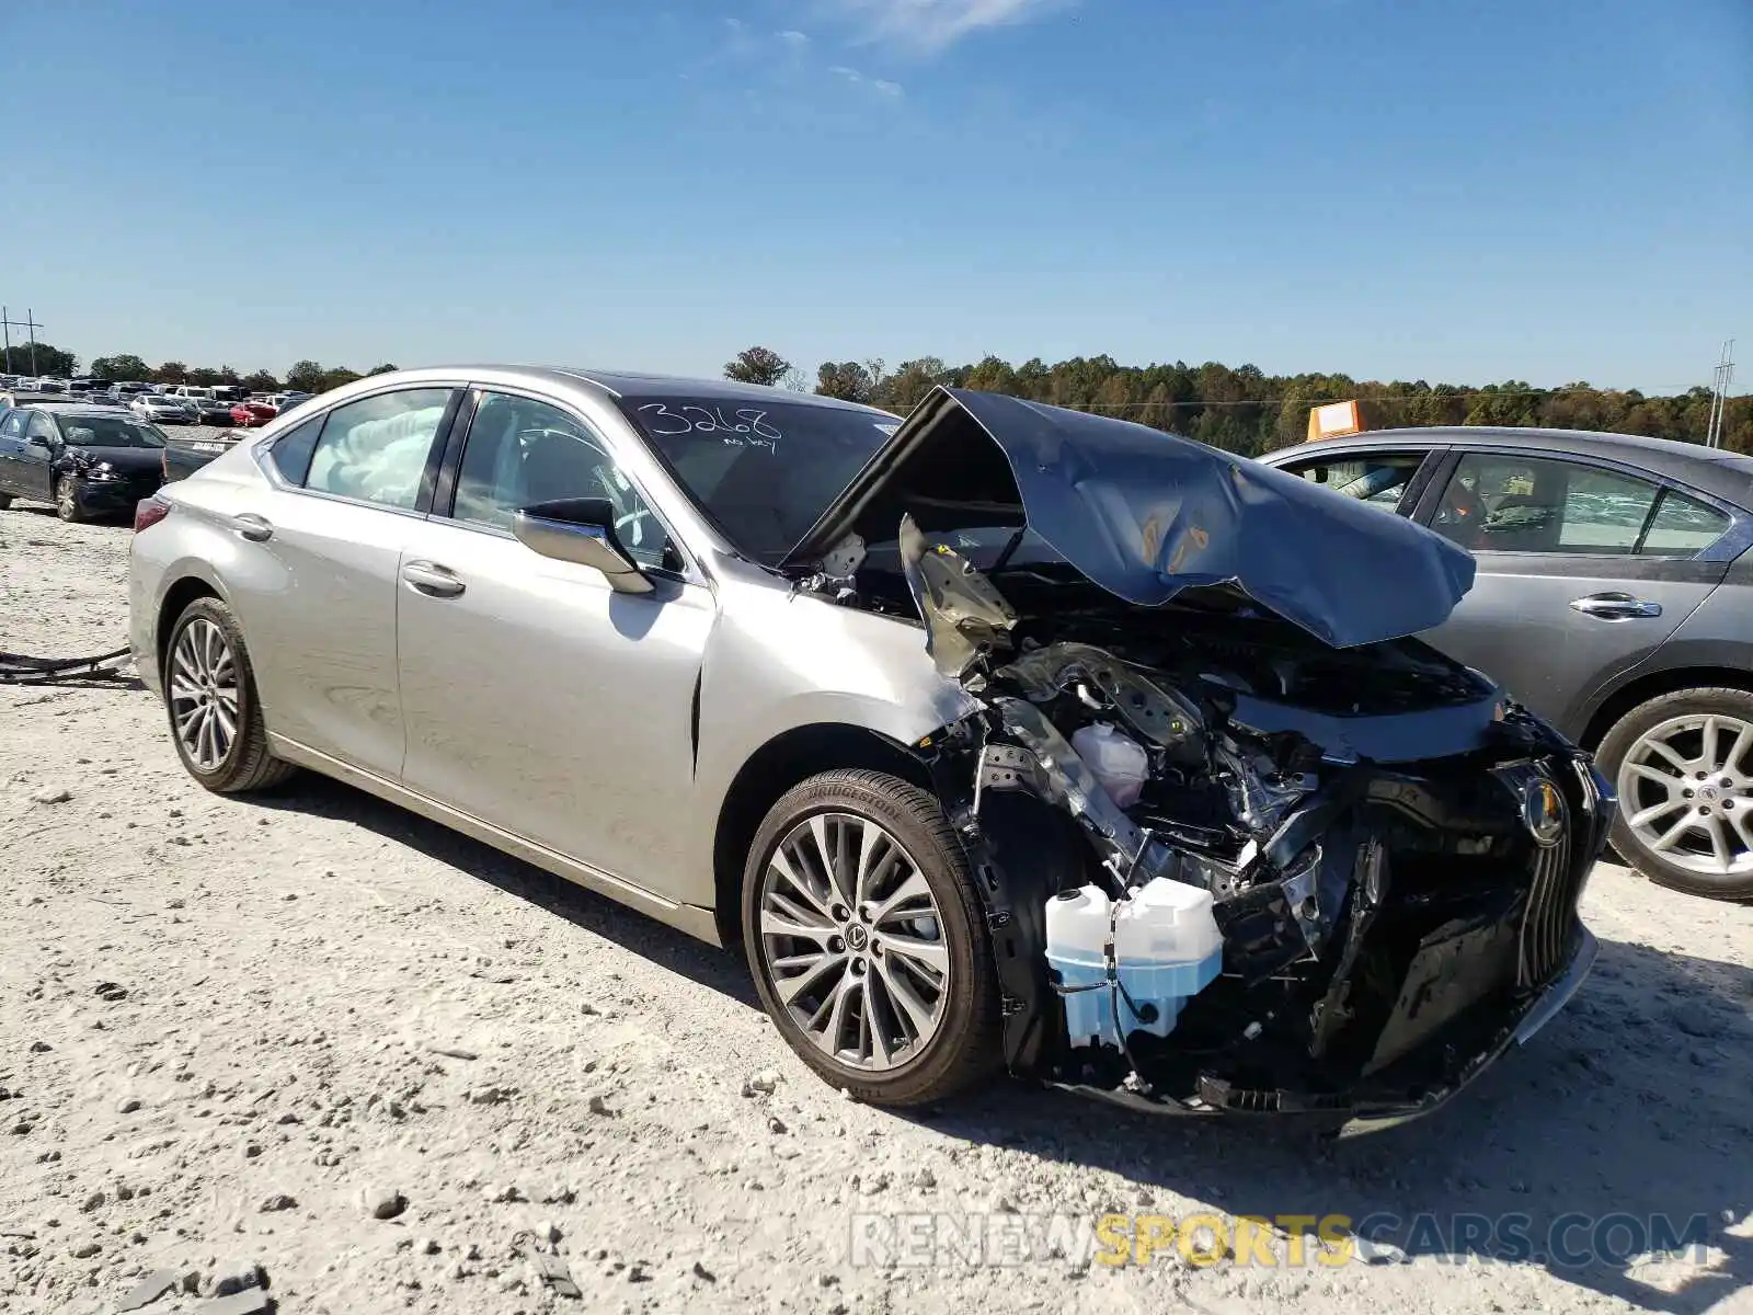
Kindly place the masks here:
<instances>
[{"instance_id":1,"label":"rear door window of the silver sedan, white airbag visible inside","mask_svg":"<svg viewBox=\"0 0 1753 1315\"><path fill-rule=\"evenodd\" d=\"M447 387L414 387L335 407L310 454L305 487L412 510L449 402Z\"/></svg>"}]
</instances>

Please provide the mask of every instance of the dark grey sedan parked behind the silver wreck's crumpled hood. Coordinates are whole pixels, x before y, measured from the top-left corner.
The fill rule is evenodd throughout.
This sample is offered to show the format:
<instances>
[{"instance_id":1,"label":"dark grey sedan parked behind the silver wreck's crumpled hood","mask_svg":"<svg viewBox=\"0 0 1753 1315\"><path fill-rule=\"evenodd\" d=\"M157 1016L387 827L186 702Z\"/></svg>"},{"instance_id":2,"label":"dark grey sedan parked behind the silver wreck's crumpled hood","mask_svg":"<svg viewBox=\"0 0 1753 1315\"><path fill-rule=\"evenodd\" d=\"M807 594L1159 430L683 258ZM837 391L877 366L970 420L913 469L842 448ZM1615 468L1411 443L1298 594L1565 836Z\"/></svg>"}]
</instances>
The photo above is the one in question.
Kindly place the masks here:
<instances>
[{"instance_id":1,"label":"dark grey sedan parked behind the silver wreck's crumpled hood","mask_svg":"<svg viewBox=\"0 0 1753 1315\"><path fill-rule=\"evenodd\" d=\"M1488 672L1615 782L1651 880L1753 899L1753 458L1567 430L1380 430L1273 452L1478 561L1422 638ZM1359 580L1359 587L1369 587Z\"/></svg>"}]
</instances>

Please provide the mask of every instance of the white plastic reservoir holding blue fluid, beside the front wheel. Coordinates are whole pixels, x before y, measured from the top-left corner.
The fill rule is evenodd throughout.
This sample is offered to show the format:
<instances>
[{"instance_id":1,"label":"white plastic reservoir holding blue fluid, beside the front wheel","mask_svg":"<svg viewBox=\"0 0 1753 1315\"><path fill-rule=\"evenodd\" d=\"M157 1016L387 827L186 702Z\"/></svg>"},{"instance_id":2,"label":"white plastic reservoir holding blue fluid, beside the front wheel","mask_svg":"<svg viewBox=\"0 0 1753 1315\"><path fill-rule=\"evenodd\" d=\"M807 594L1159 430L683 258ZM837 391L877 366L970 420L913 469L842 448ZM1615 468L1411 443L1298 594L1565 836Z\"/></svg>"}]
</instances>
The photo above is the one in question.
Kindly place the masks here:
<instances>
[{"instance_id":1,"label":"white plastic reservoir holding blue fluid, beside the front wheel","mask_svg":"<svg viewBox=\"0 0 1753 1315\"><path fill-rule=\"evenodd\" d=\"M1115 977L1125 987L1118 1029L1108 985L1110 929ZM1211 892L1197 885L1159 877L1118 901L1085 885L1047 901L1047 963L1066 991L1071 1045L1118 1045L1122 1031L1175 1031L1187 1001L1224 966L1224 935L1211 915Z\"/></svg>"}]
</instances>

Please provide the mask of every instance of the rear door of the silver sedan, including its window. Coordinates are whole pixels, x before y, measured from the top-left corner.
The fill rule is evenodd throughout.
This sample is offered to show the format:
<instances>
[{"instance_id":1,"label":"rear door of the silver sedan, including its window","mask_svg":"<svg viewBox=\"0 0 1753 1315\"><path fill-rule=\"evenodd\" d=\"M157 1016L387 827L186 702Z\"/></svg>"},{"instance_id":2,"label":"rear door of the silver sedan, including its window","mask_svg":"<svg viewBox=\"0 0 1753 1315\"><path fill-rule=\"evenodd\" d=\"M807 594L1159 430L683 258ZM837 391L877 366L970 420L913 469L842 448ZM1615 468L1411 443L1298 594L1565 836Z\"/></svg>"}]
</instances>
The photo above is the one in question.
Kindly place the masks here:
<instances>
[{"instance_id":1,"label":"rear door of the silver sedan, including its window","mask_svg":"<svg viewBox=\"0 0 1753 1315\"><path fill-rule=\"evenodd\" d=\"M396 572L459 396L424 384L319 412L275 440L272 484L224 508L240 540L231 603L268 731L386 780L405 747Z\"/></svg>"}]
</instances>

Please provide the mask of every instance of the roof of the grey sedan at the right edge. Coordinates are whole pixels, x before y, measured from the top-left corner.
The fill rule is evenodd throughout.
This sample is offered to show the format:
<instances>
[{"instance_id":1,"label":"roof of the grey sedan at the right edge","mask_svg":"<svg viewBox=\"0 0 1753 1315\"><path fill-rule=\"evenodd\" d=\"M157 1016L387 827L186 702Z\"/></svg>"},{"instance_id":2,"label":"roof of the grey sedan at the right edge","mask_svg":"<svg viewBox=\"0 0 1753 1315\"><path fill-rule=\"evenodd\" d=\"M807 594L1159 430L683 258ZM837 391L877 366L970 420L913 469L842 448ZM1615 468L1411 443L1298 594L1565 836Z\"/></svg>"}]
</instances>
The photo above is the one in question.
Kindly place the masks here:
<instances>
[{"instance_id":1,"label":"roof of the grey sedan at the right edge","mask_svg":"<svg viewBox=\"0 0 1753 1315\"><path fill-rule=\"evenodd\" d=\"M1318 452L1367 452L1381 447L1515 447L1553 456L1599 456L1629 466L1721 493L1748 505L1753 458L1721 447L1704 447L1674 438L1600 430L1541 430L1534 426L1432 424L1401 430L1367 430L1343 438L1315 438L1271 454L1273 463Z\"/></svg>"}]
</instances>

